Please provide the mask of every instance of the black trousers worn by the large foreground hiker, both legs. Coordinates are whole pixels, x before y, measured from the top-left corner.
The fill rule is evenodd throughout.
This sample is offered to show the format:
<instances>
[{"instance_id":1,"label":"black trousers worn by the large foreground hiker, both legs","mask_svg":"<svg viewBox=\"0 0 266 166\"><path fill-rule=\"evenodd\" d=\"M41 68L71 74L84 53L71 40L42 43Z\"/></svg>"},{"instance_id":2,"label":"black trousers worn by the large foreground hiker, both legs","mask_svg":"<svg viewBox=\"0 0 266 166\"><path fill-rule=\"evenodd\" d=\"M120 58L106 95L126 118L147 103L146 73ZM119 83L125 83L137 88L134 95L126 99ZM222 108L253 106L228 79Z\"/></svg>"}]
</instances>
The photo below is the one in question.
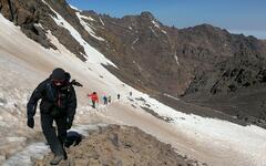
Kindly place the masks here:
<instances>
[{"instance_id":1,"label":"black trousers worn by the large foreground hiker, both legs","mask_svg":"<svg viewBox=\"0 0 266 166\"><path fill-rule=\"evenodd\" d=\"M53 121L58 126L58 135L52 126ZM41 114L42 132L53 154L64 155L63 144L66 138L66 116L53 117L50 114Z\"/></svg>"}]
</instances>

